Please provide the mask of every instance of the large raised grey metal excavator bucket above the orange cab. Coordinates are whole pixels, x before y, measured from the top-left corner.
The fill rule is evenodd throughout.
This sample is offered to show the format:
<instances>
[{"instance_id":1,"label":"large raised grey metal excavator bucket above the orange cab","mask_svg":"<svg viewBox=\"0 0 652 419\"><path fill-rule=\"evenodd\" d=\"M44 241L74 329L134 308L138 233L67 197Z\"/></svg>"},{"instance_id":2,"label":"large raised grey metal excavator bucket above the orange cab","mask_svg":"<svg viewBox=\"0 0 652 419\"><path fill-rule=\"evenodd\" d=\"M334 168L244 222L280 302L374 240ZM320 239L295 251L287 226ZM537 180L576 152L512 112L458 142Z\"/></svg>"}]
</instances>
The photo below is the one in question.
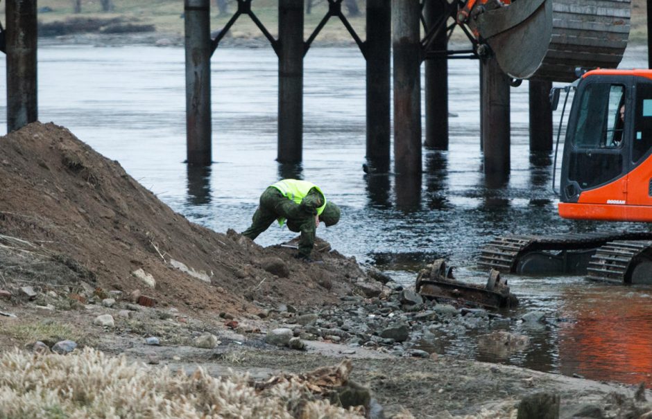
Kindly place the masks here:
<instances>
[{"instance_id":1,"label":"large raised grey metal excavator bucket above the orange cab","mask_svg":"<svg viewBox=\"0 0 652 419\"><path fill-rule=\"evenodd\" d=\"M512 0L475 25L513 78L571 82L575 69L616 68L630 30L631 0Z\"/></svg>"}]
</instances>

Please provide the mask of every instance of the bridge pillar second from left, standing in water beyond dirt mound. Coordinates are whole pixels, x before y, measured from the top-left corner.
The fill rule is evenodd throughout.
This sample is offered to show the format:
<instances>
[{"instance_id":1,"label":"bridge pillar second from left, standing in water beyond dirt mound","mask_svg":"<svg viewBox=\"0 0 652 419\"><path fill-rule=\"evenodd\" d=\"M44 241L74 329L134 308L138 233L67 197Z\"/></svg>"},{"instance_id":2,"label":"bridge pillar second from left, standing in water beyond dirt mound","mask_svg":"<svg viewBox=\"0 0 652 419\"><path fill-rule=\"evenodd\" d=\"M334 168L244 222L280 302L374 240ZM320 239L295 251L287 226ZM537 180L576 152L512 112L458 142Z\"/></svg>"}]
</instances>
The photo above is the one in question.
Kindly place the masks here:
<instances>
[{"instance_id":1,"label":"bridge pillar second from left, standing in water beyond dirt mound","mask_svg":"<svg viewBox=\"0 0 652 419\"><path fill-rule=\"evenodd\" d=\"M185 0L187 163L207 166L211 156L210 1Z\"/></svg>"}]
</instances>

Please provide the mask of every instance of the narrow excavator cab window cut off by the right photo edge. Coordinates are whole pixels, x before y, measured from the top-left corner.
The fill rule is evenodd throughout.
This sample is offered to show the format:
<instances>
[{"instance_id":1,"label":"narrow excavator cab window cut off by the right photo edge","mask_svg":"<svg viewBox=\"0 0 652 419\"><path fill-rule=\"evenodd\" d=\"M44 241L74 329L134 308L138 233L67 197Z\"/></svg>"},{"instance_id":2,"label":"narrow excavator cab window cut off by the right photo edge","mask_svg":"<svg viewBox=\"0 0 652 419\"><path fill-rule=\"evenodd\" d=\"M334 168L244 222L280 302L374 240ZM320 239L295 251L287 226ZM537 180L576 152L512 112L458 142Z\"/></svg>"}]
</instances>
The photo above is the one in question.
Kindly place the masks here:
<instances>
[{"instance_id":1,"label":"narrow excavator cab window cut off by the right photo edge","mask_svg":"<svg viewBox=\"0 0 652 419\"><path fill-rule=\"evenodd\" d=\"M632 163L641 163L652 148L652 83L636 84Z\"/></svg>"}]
</instances>

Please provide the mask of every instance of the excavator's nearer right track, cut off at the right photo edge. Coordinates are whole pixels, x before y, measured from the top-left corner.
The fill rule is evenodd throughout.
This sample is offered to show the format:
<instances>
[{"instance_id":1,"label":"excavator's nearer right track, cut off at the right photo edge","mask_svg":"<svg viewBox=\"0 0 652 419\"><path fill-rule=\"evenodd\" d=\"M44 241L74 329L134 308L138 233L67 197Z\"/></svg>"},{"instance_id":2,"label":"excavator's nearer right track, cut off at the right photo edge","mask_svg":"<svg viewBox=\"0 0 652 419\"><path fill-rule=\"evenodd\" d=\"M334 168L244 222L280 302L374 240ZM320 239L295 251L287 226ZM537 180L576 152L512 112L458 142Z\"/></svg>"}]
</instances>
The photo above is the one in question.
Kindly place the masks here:
<instances>
[{"instance_id":1,"label":"excavator's nearer right track, cut off at the right photo edge","mask_svg":"<svg viewBox=\"0 0 652 419\"><path fill-rule=\"evenodd\" d=\"M587 278L612 283L631 283L634 269L641 260L649 260L646 254L652 240L615 240L599 247L587 267ZM641 282L634 280L634 282Z\"/></svg>"}]
</instances>

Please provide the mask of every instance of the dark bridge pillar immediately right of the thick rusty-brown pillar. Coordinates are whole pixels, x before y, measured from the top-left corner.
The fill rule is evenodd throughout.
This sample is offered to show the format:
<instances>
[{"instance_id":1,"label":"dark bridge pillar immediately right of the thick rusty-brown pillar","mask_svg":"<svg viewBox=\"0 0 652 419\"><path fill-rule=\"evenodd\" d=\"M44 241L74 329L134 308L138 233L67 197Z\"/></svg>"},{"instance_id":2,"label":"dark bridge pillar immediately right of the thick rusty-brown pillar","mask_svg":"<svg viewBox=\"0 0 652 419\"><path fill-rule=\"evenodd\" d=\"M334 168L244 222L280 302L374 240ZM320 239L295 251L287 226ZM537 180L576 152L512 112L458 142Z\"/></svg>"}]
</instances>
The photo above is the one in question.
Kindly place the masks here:
<instances>
[{"instance_id":1,"label":"dark bridge pillar immediately right of the thick rusty-brown pillar","mask_svg":"<svg viewBox=\"0 0 652 419\"><path fill-rule=\"evenodd\" d=\"M424 18L428 30L447 15L446 1L430 0L424 5ZM446 51L446 31L434 39L434 51ZM448 60L445 56L426 60L425 63L426 140L424 145L434 150L448 150Z\"/></svg>"}]
</instances>

